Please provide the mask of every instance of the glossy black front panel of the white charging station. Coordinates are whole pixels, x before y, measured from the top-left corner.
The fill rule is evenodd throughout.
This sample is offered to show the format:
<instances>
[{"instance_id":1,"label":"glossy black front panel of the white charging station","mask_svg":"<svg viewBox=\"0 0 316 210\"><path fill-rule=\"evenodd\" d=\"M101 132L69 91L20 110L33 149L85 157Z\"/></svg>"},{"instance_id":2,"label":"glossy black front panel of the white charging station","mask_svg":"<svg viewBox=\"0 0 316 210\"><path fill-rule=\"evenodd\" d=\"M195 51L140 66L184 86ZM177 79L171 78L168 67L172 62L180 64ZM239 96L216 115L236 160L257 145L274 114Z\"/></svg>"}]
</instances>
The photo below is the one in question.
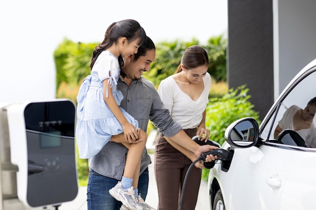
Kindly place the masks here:
<instances>
[{"instance_id":1,"label":"glossy black front panel of the white charging station","mask_svg":"<svg viewBox=\"0 0 316 210\"><path fill-rule=\"evenodd\" d=\"M73 200L78 193L75 106L70 101L30 103L24 110L32 207Z\"/></svg>"}]
</instances>

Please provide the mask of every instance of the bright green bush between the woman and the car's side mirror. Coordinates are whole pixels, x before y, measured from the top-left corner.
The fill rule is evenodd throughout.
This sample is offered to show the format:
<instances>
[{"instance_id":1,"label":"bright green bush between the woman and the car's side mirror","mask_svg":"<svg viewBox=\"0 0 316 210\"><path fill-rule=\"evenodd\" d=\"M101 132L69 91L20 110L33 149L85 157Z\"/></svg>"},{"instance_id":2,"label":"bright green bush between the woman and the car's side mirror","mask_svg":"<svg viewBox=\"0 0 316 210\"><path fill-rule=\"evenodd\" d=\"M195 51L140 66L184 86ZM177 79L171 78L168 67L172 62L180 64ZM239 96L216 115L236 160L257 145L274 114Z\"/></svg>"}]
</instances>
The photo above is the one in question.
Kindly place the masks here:
<instances>
[{"instance_id":1,"label":"bright green bush between the woman and the car's side mirror","mask_svg":"<svg viewBox=\"0 0 316 210\"><path fill-rule=\"evenodd\" d=\"M205 126L210 130L209 139L223 145L226 128L234 121L243 117L253 117L260 124L259 113L249 102L249 89L245 85L230 89L222 98L211 98L206 107ZM202 178L207 180L209 169L203 169Z\"/></svg>"}]
</instances>

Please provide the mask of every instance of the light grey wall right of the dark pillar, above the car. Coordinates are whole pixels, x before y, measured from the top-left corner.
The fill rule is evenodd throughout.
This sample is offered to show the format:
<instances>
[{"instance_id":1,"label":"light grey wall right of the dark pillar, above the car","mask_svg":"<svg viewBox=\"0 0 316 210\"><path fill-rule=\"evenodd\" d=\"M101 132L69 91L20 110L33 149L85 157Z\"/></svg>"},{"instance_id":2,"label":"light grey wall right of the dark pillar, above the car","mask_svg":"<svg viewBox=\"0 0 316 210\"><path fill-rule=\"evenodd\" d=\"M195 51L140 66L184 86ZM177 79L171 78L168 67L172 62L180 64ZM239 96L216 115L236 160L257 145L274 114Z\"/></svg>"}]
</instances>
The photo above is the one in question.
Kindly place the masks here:
<instances>
[{"instance_id":1,"label":"light grey wall right of the dark pillar, above the car","mask_svg":"<svg viewBox=\"0 0 316 210\"><path fill-rule=\"evenodd\" d=\"M314 0L275 0L278 10L278 40L275 40L279 57L275 72L279 78L275 98L283 91L293 77L310 61L316 58L316 16ZM278 45L277 45L278 44ZM278 69L279 68L279 69Z\"/></svg>"}]
</instances>

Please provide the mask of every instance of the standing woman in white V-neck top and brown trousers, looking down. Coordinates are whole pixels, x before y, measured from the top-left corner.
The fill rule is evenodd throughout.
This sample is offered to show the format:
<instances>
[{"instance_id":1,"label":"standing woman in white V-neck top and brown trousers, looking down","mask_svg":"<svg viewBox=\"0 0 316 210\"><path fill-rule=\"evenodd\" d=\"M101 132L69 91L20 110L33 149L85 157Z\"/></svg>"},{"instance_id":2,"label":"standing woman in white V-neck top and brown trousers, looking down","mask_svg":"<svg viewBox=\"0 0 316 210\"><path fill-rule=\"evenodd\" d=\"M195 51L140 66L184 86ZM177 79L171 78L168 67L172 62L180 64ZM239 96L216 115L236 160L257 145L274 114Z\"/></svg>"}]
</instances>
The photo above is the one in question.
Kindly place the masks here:
<instances>
[{"instance_id":1,"label":"standing woman in white V-neck top and brown trousers, looking down","mask_svg":"<svg viewBox=\"0 0 316 210\"><path fill-rule=\"evenodd\" d=\"M206 51L200 46L191 46L183 53L177 73L163 80L158 89L173 120L190 137L198 135L200 141L206 141L209 136L209 130L205 128L206 105L211 85L211 78L207 73L208 65ZM196 157L191 152L159 135L155 150L155 178L159 194L157 209L178 209L184 177L194 160ZM182 209L195 209L201 173L202 169L197 167L190 171Z\"/></svg>"}]
</instances>

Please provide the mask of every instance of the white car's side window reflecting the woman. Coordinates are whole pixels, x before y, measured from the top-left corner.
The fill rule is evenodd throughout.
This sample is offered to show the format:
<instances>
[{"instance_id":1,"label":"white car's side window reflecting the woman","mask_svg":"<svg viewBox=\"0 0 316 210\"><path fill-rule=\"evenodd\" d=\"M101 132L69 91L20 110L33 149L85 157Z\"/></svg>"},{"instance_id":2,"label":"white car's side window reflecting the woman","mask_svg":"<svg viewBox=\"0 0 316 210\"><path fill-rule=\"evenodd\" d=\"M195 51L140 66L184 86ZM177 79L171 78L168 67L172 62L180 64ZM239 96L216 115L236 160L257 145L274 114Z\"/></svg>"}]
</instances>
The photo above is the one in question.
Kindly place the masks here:
<instances>
[{"instance_id":1,"label":"white car's side window reflecting the woman","mask_svg":"<svg viewBox=\"0 0 316 210\"><path fill-rule=\"evenodd\" d=\"M316 72L313 72L310 75L306 76L302 81L300 81L290 92L286 93L287 95L285 96L285 98L282 101L280 101L280 103L277 104L277 106L279 106L279 109L275 107L274 113L271 115L269 121L265 124L265 127L261 129L262 132L260 133L260 137L262 139L268 139L268 141L275 142L276 137L274 136L275 135L274 132L278 124L281 127L281 130L283 128L293 129L293 130L295 130L294 128L298 128L298 130L296 131L300 135L302 135L305 141L307 141L306 138L311 138L311 139L314 138L313 135L316 135L316 130L314 128L314 125L316 124L316 117L313 117L313 119L310 119L312 120L314 124L310 126L310 129L307 129L306 127L304 127L305 126L304 121L302 123L295 124L295 120L293 121L293 118L295 117L297 118L298 114L303 115L303 110L307 107L307 104L310 102L311 99L316 97L315 81L316 81ZM315 104L315 107L316 107L316 104ZM298 124L301 124L301 126L298 126ZM299 129L299 128L303 128L303 129ZM308 141L312 141L312 140L308 140ZM316 143L315 143L315 146L316 146Z\"/></svg>"}]
</instances>

